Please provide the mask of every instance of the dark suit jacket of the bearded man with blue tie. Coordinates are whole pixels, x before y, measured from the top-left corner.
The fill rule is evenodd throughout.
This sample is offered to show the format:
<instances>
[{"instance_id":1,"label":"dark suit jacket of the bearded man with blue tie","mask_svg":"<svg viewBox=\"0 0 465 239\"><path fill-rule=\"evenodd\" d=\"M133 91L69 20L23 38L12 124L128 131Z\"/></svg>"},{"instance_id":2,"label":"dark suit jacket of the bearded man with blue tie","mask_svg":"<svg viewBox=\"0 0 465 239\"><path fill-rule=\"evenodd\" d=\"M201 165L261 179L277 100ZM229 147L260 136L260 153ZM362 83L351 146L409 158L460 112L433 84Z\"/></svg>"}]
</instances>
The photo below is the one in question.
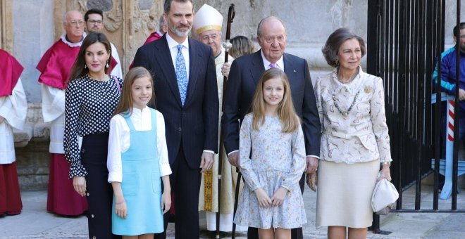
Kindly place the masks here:
<instances>
[{"instance_id":1,"label":"dark suit jacket of the bearded man with blue tie","mask_svg":"<svg viewBox=\"0 0 465 239\"><path fill-rule=\"evenodd\" d=\"M170 164L182 143L187 164L198 169L203 150L218 151L218 86L211 47L189 39L189 57L189 84L184 106L166 35L141 46L135 55L134 67L147 68L154 79L156 109L165 118Z\"/></svg>"}]
</instances>

